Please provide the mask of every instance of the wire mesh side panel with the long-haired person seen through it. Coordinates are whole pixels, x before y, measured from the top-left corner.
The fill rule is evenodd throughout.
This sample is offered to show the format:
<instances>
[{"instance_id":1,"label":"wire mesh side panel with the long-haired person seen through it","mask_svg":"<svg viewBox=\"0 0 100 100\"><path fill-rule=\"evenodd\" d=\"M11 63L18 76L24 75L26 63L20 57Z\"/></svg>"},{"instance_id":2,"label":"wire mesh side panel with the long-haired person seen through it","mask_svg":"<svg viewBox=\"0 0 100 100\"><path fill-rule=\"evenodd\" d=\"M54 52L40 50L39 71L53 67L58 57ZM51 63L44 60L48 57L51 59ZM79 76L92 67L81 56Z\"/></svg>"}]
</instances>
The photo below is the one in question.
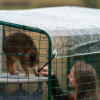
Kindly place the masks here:
<instances>
[{"instance_id":1,"label":"wire mesh side panel with the long-haired person seen through it","mask_svg":"<svg viewBox=\"0 0 100 100\"><path fill-rule=\"evenodd\" d=\"M99 40L99 34L96 34L96 36L98 36ZM96 36L94 35L92 38L96 39ZM84 35L77 35L75 37L79 39L79 41L76 39L77 43L80 42L81 38L83 40L88 38L88 36L85 37ZM62 45L61 49L65 50L64 43L67 45L74 44L75 37L56 38L58 42L56 42L57 44L54 48ZM64 42L63 40L65 38L66 40ZM90 43L87 42L88 40L85 40L85 44L80 47L77 46L74 50L70 49L71 44L69 49L67 48L69 51L65 51L69 53L67 56L64 51L60 51L60 56L53 60L52 71L55 73L55 76L52 76L52 93L55 100L99 100L100 54L96 52L89 54L91 51L99 50L99 46L97 46L97 44L99 45L99 41ZM55 38L52 38L52 41L55 41ZM77 52L82 55L73 55L73 53L77 54Z\"/></svg>"}]
</instances>

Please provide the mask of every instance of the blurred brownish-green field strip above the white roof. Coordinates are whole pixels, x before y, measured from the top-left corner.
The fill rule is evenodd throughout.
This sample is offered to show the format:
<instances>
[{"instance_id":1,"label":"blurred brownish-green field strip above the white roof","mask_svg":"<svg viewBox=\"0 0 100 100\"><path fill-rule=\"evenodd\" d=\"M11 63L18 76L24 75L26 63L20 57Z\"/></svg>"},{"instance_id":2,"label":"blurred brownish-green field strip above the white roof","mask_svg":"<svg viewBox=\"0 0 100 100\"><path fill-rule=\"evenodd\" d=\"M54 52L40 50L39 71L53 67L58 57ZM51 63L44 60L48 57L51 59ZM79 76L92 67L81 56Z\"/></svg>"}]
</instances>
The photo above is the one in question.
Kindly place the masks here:
<instances>
[{"instance_id":1,"label":"blurred brownish-green field strip above the white roof","mask_svg":"<svg viewBox=\"0 0 100 100\"><path fill-rule=\"evenodd\" d=\"M0 9L29 9L65 5L100 8L100 0L0 0Z\"/></svg>"}]
</instances>

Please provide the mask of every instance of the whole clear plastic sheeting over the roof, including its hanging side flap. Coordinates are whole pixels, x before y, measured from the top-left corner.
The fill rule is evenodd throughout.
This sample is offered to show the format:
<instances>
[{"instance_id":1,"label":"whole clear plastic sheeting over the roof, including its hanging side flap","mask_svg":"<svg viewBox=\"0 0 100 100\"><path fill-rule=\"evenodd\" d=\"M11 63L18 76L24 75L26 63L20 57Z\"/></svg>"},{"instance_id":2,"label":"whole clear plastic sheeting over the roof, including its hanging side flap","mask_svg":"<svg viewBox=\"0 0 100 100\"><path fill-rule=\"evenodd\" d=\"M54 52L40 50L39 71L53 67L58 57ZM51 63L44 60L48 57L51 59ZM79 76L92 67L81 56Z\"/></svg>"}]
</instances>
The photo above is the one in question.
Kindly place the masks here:
<instances>
[{"instance_id":1,"label":"whole clear plastic sheeting over the roof, including its hanging side flap","mask_svg":"<svg viewBox=\"0 0 100 100\"><path fill-rule=\"evenodd\" d=\"M56 57L100 52L100 10L82 7L52 7L1 10L0 20L48 32Z\"/></svg>"}]
</instances>

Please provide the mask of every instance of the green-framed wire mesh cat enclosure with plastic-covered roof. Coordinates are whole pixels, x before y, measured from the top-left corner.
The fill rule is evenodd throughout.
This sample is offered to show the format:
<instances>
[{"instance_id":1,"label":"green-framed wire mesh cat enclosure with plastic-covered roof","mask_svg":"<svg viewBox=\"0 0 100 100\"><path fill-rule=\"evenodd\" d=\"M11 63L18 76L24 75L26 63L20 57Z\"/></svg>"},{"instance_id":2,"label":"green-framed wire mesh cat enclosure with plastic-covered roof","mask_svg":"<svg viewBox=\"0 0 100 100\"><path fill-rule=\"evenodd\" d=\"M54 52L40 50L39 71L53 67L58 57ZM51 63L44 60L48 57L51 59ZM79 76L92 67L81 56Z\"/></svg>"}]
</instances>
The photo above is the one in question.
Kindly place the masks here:
<instances>
[{"instance_id":1,"label":"green-framed wire mesh cat enclosure with plastic-covered roof","mask_svg":"<svg viewBox=\"0 0 100 100\"><path fill-rule=\"evenodd\" d=\"M82 7L52 7L29 10L0 11L0 100L52 100L54 71L60 86L67 94L71 66L77 61L91 64L100 80L100 10ZM35 76L29 70L25 77L23 66L16 60L18 75L9 73L3 51L5 38L15 32L30 36L38 50L37 68L49 62L49 76ZM5 46L6 47L6 46ZM24 46L22 46L24 47ZM14 47L10 46L10 49ZM16 47L19 49L19 47ZM29 47L24 47L29 48ZM11 54L13 56L13 52ZM47 85L48 81L48 85ZM99 89L99 88L98 88Z\"/></svg>"}]
</instances>

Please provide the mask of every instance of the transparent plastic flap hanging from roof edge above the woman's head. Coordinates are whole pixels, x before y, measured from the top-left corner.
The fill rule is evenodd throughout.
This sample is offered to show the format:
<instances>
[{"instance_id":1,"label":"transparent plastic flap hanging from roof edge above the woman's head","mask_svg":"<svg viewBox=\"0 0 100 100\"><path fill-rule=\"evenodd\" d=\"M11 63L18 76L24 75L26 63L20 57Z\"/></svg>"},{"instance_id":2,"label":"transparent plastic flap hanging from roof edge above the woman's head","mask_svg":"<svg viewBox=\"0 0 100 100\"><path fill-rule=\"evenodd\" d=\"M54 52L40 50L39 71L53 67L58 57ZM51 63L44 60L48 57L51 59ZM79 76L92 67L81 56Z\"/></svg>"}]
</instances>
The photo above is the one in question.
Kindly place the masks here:
<instances>
[{"instance_id":1,"label":"transparent plastic flap hanging from roof edge above the woman's head","mask_svg":"<svg viewBox=\"0 0 100 100\"><path fill-rule=\"evenodd\" d=\"M52 41L57 58L100 53L100 29L66 30L65 36L54 36Z\"/></svg>"}]
</instances>

